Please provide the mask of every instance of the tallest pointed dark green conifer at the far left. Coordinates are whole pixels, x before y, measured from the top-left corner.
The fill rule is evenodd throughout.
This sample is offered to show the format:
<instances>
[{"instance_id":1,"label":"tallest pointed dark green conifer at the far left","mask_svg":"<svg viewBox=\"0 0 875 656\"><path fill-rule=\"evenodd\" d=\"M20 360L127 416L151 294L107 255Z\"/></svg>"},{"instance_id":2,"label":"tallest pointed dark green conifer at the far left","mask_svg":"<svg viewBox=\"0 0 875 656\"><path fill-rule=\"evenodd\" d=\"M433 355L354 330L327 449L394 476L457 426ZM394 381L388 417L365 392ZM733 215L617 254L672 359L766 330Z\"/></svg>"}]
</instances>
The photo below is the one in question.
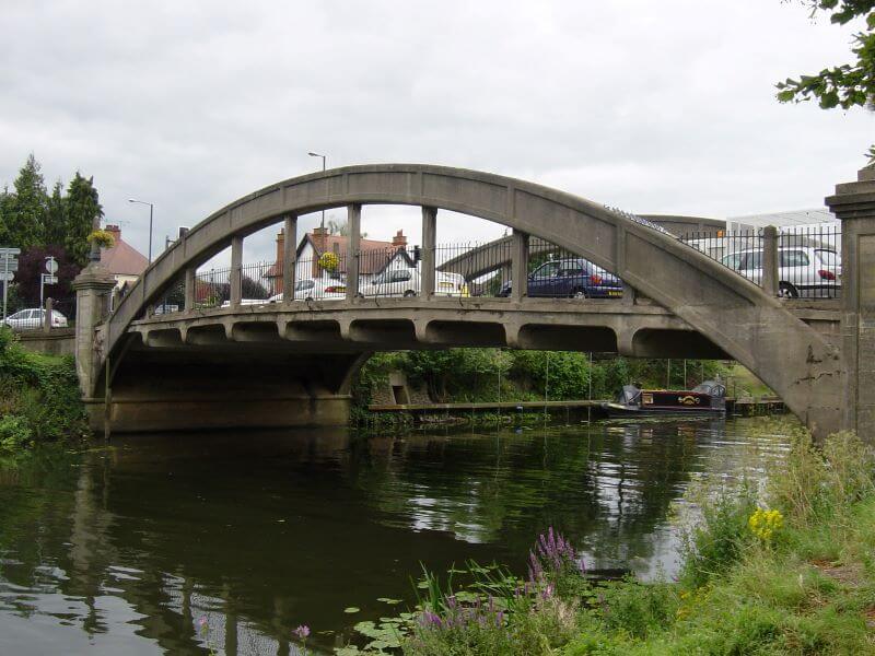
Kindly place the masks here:
<instances>
[{"instance_id":1,"label":"tallest pointed dark green conifer at the far left","mask_svg":"<svg viewBox=\"0 0 875 656\"><path fill-rule=\"evenodd\" d=\"M19 171L13 185L15 191L9 211L3 216L7 239L11 246L23 250L43 244L48 197L40 168L39 162L31 153Z\"/></svg>"}]
</instances>

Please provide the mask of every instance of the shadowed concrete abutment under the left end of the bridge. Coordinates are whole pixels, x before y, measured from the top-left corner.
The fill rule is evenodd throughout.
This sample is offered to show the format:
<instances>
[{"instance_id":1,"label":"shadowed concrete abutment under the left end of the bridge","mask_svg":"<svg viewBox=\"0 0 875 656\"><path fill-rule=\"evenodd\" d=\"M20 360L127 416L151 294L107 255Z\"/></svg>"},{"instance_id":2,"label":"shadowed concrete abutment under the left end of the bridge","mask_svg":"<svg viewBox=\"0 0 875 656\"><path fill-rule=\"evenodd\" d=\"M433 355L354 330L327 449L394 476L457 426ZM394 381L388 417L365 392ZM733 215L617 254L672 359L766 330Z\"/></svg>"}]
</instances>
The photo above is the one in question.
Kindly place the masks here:
<instances>
[{"instance_id":1,"label":"shadowed concrete abutment under the left end of the bridge","mask_svg":"<svg viewBox=\"0 0 875 656\"><path fill-rule=\"evenodd\" d=\"M341 426L361 355L132 344L95 399L92 427L112 433ZM97 397L103 382L97 382Z\"/></svg>"}]
</instances>

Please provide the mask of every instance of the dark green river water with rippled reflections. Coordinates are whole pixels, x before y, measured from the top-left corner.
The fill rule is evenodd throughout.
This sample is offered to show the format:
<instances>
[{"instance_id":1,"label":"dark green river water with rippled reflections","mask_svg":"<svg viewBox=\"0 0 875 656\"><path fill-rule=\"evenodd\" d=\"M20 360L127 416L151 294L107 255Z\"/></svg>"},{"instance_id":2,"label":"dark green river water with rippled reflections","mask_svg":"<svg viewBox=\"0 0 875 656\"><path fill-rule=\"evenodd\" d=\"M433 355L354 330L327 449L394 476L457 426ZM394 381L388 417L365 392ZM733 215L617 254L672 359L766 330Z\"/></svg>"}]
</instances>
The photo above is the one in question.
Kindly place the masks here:
<instances>
[{"instance_id":1,"label":"dark green river water with rippled reflections","mask_svg":"<svg viewBox=\"0 0 875 656\"><path fill-rule=\"evenodd\" d=\"M140 436L38 453L0 469L0 654L294 654L299 624L330 653L355 622L412 604L421 563L523 573L548 526L591 569L670 577L690 481L756 472L785 448L752 421Z\"/></svg>"}]
</instances>

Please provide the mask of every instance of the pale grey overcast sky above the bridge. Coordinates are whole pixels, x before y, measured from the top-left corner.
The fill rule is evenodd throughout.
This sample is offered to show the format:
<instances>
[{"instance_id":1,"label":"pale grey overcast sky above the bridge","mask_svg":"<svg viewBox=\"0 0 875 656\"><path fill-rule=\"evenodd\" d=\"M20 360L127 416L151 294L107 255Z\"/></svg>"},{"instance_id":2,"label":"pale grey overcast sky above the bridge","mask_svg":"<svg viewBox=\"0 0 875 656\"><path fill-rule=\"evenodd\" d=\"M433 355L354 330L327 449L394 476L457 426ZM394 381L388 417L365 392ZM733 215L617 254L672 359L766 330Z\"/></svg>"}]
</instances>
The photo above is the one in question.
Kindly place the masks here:
<instances>
[{"instance_id":1,"label":"pale grey overcast sky above the bridge","mask_svg":"<svg viewBox=\"0 0 875 656\"><path fill-rule=\"evenodd\" d=\"M154 202L159 249L177 225L320 167L307 151L725 218L822 206L875 142L875 114L774 99L779 80L850 59L854 26L800 2L4 0L2 16L0 183L30 152L49 185L93 175L107 221L143 253L148 208L127 198ZM365 208L363 223L416 242L418 221ZM439 224L442 242L500 232Z\"/></svg>"}]
</instances>

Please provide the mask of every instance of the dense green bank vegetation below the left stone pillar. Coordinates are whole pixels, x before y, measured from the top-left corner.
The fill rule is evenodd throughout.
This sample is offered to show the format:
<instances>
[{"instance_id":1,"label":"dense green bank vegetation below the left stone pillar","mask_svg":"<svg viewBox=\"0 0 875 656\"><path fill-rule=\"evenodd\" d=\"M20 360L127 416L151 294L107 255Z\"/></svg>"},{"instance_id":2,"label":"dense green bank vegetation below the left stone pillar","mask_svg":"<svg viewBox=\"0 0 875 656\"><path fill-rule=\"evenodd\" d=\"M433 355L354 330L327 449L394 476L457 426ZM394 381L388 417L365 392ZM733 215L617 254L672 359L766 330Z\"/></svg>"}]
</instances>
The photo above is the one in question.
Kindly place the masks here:
<instances>
[{"instance_id":1,"label":"dense green bank vegetation below the left stone pillar","mask_svg":"<svg viewBox=\"0 0 875 656\"><path fill-rule=\"evenodd\" d=\"M0 457L86 434L73 359L26 351L0 328Z\"/></svg>"}]
</instances>

